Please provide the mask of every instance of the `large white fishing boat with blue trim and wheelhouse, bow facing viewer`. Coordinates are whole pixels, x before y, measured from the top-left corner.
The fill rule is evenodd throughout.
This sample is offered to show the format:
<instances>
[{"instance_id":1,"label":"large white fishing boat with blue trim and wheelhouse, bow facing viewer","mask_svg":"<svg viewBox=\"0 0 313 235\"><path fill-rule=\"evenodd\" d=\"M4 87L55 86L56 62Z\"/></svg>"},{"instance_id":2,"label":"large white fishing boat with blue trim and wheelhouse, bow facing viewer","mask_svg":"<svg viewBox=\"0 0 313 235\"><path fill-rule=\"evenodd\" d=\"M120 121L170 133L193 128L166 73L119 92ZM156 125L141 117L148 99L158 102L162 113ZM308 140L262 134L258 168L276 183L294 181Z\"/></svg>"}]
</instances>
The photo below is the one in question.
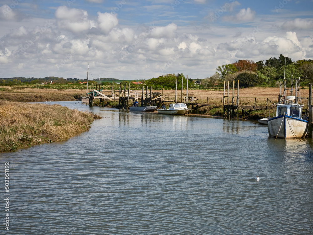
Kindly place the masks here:
<instances>
[{"instance_id":1,"label":"large white fishing boat with blue trim and wheelhouse, bow facing viewer","mask_svg":"<svg viewBox=\"0 0 313 235\"><path fill-rule=\"evenodd\" d=\"M291 80L291 89L287 89L287 81ZM295 96L293 96L293 84L295 80ZM308 134L308 121L306 115L302 118L303 105L301 102L299 79L284 79L284 95L281 100L272 104L274 112L267 120L269 136L275 138L305 138ZM290 96L286 91L290 90ZM297 97L299 94L299 97ZM276 115L275 115L276 112Z\"/></svg>"}]
</instances>

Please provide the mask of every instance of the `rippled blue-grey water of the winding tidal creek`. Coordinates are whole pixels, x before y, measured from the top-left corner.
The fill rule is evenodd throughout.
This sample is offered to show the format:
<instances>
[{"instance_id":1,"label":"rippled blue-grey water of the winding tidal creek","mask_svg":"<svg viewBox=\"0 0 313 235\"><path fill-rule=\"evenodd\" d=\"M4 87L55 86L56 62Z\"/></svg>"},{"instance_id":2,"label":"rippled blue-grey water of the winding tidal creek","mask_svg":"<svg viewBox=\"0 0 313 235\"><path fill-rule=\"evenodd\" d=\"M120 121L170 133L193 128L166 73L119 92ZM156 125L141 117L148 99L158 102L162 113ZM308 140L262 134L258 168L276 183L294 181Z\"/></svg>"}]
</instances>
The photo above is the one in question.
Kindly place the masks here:
<instances>
[{"instance_id":1,"label":"rippled blue-grey water of the winding tidal creek","mask_svg":"<svg viewBox=\"0 0 313 235\"><path fill-rule=\"evenodd\" d=\"M58 103L103 118L69 141L0 155L10 162L1 234L313 234L312 140Z\"/></svg>"}]
</instances>

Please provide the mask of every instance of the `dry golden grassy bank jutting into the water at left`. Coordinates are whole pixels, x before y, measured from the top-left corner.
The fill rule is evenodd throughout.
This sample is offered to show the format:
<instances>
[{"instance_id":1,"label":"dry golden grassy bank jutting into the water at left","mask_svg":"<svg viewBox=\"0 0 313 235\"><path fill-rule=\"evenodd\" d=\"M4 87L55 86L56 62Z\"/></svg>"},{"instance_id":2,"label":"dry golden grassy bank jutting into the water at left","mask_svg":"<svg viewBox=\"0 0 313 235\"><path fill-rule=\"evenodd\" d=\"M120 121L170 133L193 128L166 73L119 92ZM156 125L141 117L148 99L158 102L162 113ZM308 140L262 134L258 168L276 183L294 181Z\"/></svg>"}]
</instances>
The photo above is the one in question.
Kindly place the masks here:
<instances>
[{"instance_id":1,"label":"dry golden grassy bank jutting into the water at left","mask_svg":"<svg viewBox=\"0 0 313 235\"><path fill-rule=\"evenodd\" d=\"M94 118L101 117L60 105L0 100L0 152L68 140L89 130Z\"/></svg>"}]
</instances>

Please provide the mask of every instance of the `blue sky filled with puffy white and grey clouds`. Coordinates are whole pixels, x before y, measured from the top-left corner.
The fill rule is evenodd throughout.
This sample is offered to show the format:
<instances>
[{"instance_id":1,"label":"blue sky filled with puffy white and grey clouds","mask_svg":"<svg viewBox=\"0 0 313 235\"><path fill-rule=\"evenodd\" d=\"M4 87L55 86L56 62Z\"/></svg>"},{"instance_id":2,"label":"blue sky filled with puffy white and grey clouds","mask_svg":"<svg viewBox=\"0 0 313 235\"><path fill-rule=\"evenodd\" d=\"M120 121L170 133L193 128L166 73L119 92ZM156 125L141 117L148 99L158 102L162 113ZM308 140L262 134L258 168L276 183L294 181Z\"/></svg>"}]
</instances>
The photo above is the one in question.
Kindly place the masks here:
<instances>
[{"instance_id":1,"label":"blue sky filled with puffy white and grey clouds","mask_svg":"<svg viewBox=\"0 0 313 235\"><path fill-rule=\"evenodd\" d=\"M212 76L313 58L313 0L0 0L0 77Z\"/></svg>"}]
</instances>

